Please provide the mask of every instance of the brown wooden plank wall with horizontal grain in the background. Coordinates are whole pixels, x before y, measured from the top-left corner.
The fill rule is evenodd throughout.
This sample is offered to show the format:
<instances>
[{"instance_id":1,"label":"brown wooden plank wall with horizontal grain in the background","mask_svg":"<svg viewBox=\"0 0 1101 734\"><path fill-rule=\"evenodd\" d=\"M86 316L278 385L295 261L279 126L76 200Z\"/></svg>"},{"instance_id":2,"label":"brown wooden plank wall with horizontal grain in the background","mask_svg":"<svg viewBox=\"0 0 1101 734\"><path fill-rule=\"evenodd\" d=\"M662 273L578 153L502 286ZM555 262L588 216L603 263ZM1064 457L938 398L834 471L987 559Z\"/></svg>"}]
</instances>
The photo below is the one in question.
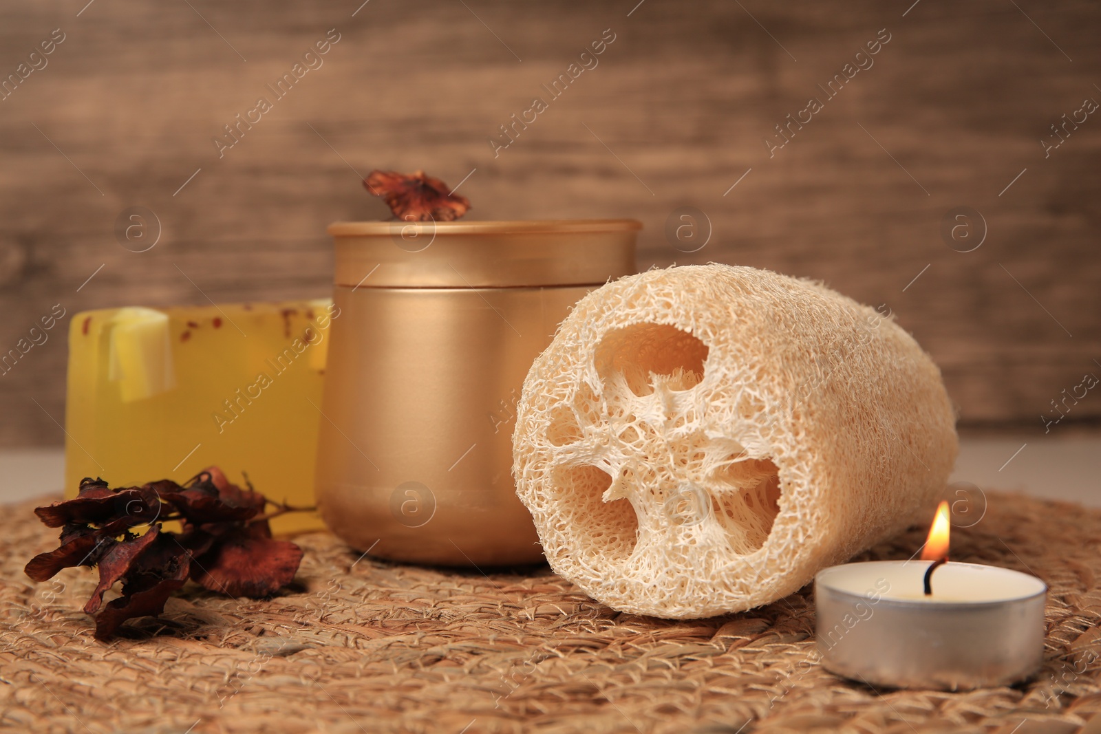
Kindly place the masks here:
<instances>
[{"instance_id":1,"label":"brown wooden plank wall with horizontal grain in the background","mask_svg":"<svg viewBox=\"0 0 1101 734\"><path fill-rule=\"evenodd\" d=\"M1101 375L1101 116L1047 157L1039 142L1101 100L1097 3L636 2L6 3L0 79L64 41L0 100L0 348L55 304L326 295L325 226L382 213L359 175L425 168L473 171L470 218L636 217L642 269L756 265L886 304L967 424L1043 432L1050 401ZM276 99L265 85L330 29L324 64ZM599 64L552 100L541 85L606 29ZM826 99L882 29L874 65ZM262 96L219 157L212 139ZM548 109L494 157L533 97ZM770 157L811 97L824 109ZM148 252L116 239L132 206L161 222ZM972 252L940 234L959 206L986 223ZM666 240L679 207L710 222L698 252ZM67 327L0 376L0 445L62 441ZM1099 418L1090 393L1062 427Z\"/></svg>"}]
</instances>

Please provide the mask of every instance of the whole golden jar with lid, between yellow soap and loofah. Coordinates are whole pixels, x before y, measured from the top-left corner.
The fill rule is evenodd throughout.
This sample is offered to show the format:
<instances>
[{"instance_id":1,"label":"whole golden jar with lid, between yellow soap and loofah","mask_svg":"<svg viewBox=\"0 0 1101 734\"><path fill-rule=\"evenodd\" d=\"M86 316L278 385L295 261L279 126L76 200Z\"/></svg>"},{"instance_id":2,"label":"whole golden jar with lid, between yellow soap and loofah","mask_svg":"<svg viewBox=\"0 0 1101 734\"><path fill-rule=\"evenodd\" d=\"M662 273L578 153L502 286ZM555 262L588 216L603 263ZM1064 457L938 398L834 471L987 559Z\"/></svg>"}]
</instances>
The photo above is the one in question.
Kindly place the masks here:
<instances>
[{"instance_id":1,"label":"whole golden jar with lid, between yellow soap and loofah","mask_svg":"<svg viewBox=\"0 0 1101 734\"><path fill-rule=\"evenodd\" d=\"M512 480L532 362L589 291L634 272L631 219L336 222L317 501L379 558L542 560Z\"/></svg>"}]
</instances>

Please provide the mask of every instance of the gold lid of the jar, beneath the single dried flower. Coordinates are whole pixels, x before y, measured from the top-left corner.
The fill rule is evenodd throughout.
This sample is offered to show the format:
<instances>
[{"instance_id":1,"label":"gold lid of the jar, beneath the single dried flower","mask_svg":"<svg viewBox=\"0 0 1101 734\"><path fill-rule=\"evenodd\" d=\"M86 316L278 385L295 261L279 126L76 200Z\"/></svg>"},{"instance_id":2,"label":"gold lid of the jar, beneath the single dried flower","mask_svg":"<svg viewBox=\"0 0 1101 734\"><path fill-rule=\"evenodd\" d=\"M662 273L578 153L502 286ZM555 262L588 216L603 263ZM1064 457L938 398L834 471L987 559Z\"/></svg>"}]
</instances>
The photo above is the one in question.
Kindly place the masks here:
<instances>
[{"instance_id":1,"label":"gold lid of the jar, beneath the single dried flower","mask_svg":"<svg viewBox=\"0 0 1101 734\"><path fill-rule=\"evenodd\" d=\"M601 285L635 272L634 219L334 222L336 285Z\"/></svg>"}]
</instances>

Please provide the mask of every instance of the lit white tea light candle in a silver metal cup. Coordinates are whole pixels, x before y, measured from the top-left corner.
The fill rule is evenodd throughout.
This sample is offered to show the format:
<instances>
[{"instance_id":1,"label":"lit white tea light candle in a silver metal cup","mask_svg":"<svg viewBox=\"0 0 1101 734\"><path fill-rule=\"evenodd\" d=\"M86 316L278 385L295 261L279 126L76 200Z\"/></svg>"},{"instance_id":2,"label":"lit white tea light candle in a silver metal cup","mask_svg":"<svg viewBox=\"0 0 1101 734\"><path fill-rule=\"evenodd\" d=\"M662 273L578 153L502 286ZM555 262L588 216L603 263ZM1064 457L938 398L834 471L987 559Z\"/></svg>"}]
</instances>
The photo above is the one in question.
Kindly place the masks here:
<instances>
[{"instance_id":1,"label":"lit white tea light candle in a silver metal cup","mask_svg":"<svg viewBox=\"0 0 1101 734\"><path fill-rule=\"evenodd\" d=\"M1020 571L942 562L947 551L941 503L923 560L820 571L822 666L871 686L940 690L1009 686L1033 675L1043 660L1047 587Z\"/></svg>"}]
</instances>

